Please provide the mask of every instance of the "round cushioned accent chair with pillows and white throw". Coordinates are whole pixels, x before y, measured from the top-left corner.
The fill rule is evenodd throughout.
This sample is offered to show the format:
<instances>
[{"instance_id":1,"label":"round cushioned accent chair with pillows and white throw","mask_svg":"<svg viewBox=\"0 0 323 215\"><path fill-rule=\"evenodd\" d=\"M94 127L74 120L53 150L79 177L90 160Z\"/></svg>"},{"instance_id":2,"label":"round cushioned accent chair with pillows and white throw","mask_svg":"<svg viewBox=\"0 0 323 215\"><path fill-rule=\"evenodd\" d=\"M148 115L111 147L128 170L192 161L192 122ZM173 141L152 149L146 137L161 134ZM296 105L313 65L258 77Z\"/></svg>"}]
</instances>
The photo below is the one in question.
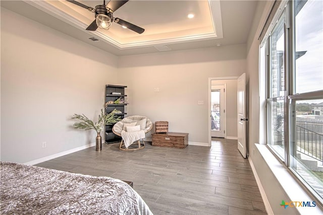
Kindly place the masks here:
<instances>
[{"instance_id":1,"label":"round cushioned accent chair with pillows and white throw","mask_svg":"<svg viewBox=\"0 0 323 215\"><path fill-rule=\"evenodd\" d=\"M145 116L135 115L135 116L125 117L121 121L117 122L113 126L112 131L116 135L122 137L122 140L120 142L120 147L119 147L120 150L135 151L135 150L141 150L145 148L145 142L143 138L145 137L145 134L151 130L151 128L152 128L152 122L150 119L148 119ZM130 138L131 139L130 143L128 140L129 138L127 138L127 135L132 136L132 138ZM140 143L140 139L142 139L143 144ZM134 144L135 142L138 144L138 147L129 149L129 146Z\"/></svg>"}]
</instances>

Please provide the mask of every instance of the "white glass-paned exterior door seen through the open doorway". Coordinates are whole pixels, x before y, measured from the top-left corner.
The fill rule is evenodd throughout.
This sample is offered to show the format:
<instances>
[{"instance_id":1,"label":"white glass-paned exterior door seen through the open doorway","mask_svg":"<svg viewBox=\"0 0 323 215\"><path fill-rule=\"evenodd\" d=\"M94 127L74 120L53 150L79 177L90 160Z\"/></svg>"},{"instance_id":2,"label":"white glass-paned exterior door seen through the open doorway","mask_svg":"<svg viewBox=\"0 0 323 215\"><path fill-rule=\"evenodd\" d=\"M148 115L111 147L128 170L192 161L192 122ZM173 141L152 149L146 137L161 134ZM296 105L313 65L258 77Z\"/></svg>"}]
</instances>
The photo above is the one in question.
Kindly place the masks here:
<instances>
[{"instance_id":1,"label":"white glass-paned exterior door seen through the open doorway","mask_svg":"<svg viewBox=\"0 0 323 215\"><path fill-rule=\"evenodd\" d=\"M211 137L225 137L225 85L211 85Z\"/></svg>"}]
</instances>

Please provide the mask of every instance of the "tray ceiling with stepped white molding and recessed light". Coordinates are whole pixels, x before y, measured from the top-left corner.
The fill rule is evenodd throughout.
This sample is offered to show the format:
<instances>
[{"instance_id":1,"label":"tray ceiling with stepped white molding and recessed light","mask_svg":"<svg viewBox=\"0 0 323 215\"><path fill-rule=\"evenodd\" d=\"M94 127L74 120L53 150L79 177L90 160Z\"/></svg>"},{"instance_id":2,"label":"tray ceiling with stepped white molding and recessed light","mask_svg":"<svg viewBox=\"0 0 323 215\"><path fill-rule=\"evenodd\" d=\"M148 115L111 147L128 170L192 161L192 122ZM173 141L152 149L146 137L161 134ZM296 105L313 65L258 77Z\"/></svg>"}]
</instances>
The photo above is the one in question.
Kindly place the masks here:
<instances>
[{"instance_id":1,"label":"tray ceiling with stepped white molding and recessed light","mask_svg":"<svg viewBox=\"0 0 323 215\"><path fill-rule=\"evenodd\" d=\"M78 2L93 8L103 3ZM114 17L145 29L138 34L117 23L109 30L87 31L94 13L64 0L1 1L2 7L116 55L246 43L256 4L256 1L130 0L114 12ZM194 14L194 18L189 19L188 14ZM97 40L89 39L92 37Z\"/></svg>"}]
</instances>

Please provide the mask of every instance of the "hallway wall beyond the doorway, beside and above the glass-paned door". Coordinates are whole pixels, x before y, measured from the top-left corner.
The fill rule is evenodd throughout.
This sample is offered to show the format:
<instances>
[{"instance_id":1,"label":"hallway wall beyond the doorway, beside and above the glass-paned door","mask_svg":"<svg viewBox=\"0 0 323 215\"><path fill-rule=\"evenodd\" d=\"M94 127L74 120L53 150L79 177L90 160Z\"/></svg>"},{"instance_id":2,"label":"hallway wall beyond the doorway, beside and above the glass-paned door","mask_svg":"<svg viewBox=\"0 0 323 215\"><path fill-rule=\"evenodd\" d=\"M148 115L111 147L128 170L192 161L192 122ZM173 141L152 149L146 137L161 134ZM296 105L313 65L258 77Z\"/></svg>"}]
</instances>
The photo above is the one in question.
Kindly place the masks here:
<instances>
[{"instance_id":1,"label":"hallway wall beyond the doorway, beside and above the glass-paned door","mask_svg":"<svg viewBox=\"0 0 323 215\"><path fill-rule=\"evenodd\" d=\"M227 93L227 136L237 137L238 136L238 82L236 79L232 80L212 80L213 84L226 84Z\"/></svg>"}]
</instances>

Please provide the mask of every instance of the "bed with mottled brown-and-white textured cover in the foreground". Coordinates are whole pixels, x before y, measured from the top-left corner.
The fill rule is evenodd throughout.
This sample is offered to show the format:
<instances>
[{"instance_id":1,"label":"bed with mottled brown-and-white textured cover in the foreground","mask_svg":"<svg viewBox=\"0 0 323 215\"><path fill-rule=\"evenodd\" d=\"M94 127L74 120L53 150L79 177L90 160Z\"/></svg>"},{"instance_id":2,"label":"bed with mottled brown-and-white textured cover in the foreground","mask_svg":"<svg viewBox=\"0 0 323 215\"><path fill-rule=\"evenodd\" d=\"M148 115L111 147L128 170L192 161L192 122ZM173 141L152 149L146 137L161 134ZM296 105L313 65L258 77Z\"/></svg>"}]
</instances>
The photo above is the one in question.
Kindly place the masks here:
<instances>
[{"instance_id":1,"label":"bed with mottled brown-and-white textured cover in the foreground","mask_svg":"<svg viewBox=\"0 0 323 215\"><path fill-rule=\"evenodd\" d=\"M127 183L1 162L1 214L152 214Z\"/></svg>"}]
</instances>

